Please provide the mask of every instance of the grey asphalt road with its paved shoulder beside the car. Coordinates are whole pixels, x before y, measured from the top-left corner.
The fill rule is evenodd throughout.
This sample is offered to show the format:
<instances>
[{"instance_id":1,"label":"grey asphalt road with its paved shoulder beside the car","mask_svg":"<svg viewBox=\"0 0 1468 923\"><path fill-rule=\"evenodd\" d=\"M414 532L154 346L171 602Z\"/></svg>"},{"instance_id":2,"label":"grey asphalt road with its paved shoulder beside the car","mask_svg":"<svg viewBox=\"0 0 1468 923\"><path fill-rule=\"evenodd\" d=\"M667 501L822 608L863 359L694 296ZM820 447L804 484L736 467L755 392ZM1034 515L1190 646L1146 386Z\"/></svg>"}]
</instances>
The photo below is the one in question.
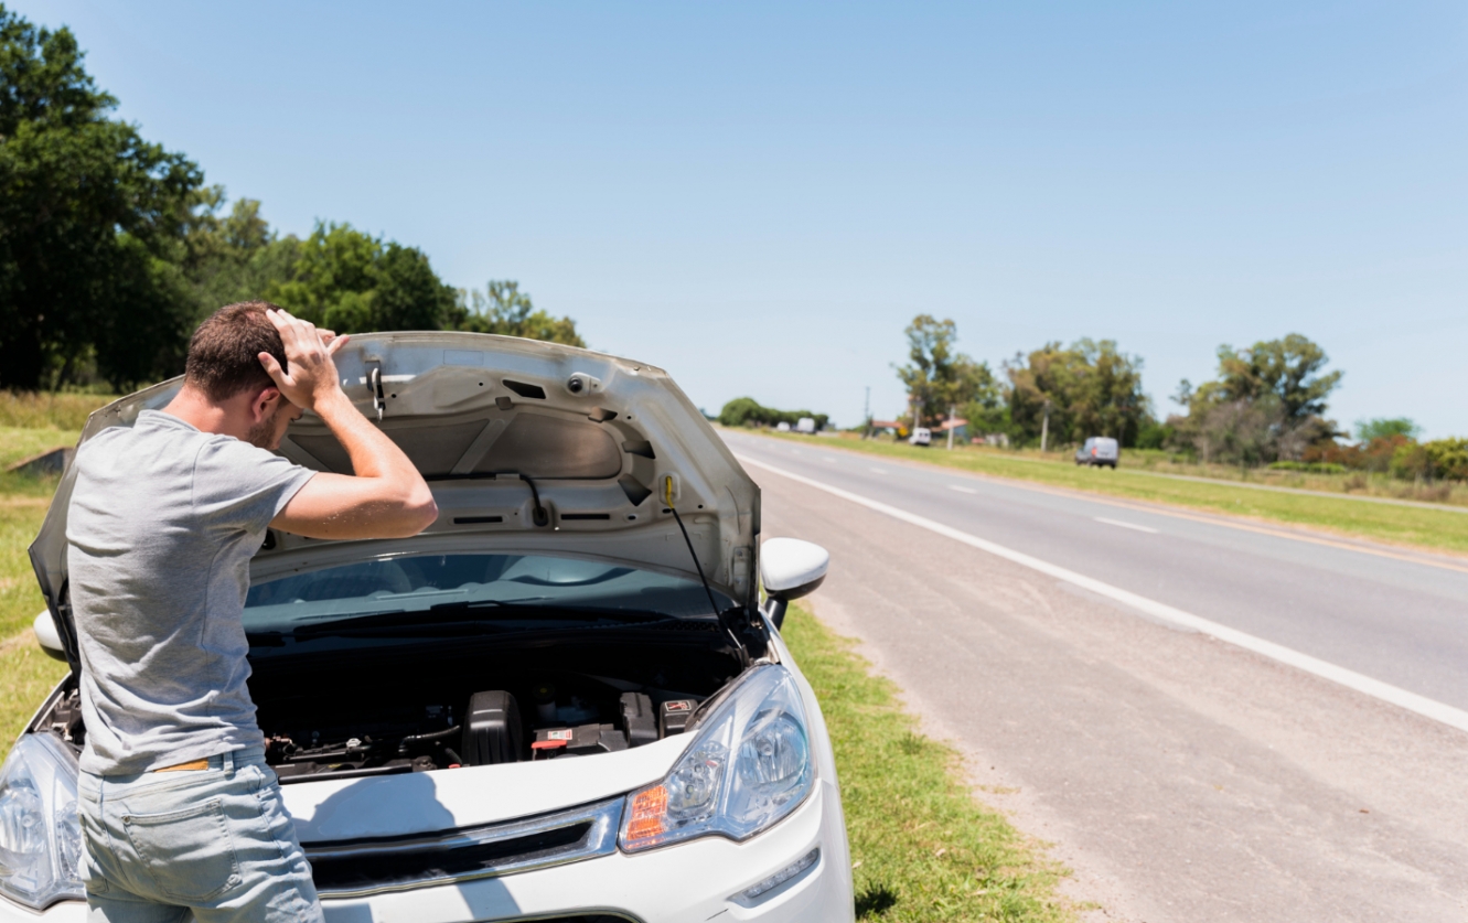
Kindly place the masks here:
<instances>
[{"instance_id":1,"label":"grey asphalt road with its paved shoulder beside the car","mask_svg":"<svg viewBox=\"0 0 1468 923\"><path fill-rule=\"evenodd\" d=\"M1461 562L725 439L763 536L831 550L815 610L967 753L978 797L1054 844L1089 916L1468 920L1468 732L941 531L1459 710Z\"/></svg>"}]
</instances>

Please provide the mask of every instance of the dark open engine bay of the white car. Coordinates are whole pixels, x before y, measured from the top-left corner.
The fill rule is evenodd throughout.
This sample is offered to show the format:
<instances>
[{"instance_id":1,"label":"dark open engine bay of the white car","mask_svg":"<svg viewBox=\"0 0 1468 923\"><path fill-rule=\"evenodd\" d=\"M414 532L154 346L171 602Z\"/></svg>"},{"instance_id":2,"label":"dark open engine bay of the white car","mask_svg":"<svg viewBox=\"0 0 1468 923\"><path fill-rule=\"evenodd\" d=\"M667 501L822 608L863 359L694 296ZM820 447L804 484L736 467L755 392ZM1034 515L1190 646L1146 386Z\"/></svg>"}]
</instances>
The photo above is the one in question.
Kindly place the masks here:
<instances>
[{"instance_id":1,"label":"dark open engine bay of the white car","mask_svg":"<svg viewBox=\"0 0 1468 923\"><path fill-rule=\"evenodd\" d=\"M261 657L250 690L282 784L577 759L681 734L743 669L718 632L659 640Z\"/></svg>"}]
</instances>

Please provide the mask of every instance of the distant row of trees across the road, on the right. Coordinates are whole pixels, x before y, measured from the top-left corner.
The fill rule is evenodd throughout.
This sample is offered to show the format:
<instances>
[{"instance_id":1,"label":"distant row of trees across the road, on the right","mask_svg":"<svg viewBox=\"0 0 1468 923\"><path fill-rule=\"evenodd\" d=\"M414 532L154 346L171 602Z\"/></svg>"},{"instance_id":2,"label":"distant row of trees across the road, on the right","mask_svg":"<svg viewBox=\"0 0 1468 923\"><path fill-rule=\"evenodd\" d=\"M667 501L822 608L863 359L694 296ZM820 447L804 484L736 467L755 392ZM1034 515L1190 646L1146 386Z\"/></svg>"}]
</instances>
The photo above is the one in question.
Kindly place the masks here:
<instances>
[{"instance_id":1,"label":"distant row of trees across the road, on the right","mask_svg":"<svg viewBox=\"0 0 1468 923\"><path fill-rule=\"evenodd\" d=\"M1340 384L1326 351L1290 333L1248 348L1221 345L1216 377L1196 387L1183 380L1160 418L1142 390L1142 360L1114 340L1050 342L1019 352L995 374L957 351L951 320L919 314L904 330L907 364L897 377L909 395L906 420L937 426L950 409L970 431L1003 434L1016 445L1075 445L1110 436L1123 446L1171 449L1202 462L1336 467L1415 480L1468 480L1468 439L1420 443L1408 418L1356 424L1356 440L1326 417Z\"/></svg>"}]
</instances>

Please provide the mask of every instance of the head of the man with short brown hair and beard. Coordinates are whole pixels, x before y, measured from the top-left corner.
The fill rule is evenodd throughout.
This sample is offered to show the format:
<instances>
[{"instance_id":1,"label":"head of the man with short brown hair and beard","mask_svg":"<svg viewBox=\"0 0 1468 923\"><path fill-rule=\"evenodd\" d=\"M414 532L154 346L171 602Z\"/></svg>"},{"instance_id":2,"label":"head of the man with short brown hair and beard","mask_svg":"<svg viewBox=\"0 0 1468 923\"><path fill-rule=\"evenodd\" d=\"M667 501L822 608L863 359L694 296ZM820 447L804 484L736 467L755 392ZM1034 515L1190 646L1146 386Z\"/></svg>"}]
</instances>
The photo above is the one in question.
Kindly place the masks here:
<instances>
[{"instance_id":1,"label":"head of the man with short brown hair and beard","mask_svg":"<svg viewBox=\"0 0 1468 923\"><path fill-rule=\"evenodd\" d=\"M267 317L279 308L266 301L225 305L198 326L188 345L184 387L213 405L232 428L261 449L275 449L301 409L286 401L260 364L260 354L286 368L285 345Z\"/></svg>"}]
</instances>

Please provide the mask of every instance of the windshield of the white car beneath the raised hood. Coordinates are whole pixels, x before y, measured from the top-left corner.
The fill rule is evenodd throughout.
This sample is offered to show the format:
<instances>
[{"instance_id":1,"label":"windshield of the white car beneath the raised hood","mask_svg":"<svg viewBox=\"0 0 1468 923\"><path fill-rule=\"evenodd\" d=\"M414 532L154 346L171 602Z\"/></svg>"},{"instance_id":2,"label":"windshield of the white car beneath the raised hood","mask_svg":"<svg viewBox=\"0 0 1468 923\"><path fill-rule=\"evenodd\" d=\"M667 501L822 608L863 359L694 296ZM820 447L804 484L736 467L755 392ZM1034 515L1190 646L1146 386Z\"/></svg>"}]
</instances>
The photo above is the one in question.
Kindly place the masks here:
<instances>
[{"instance_id":1,"label":"windshield of the white car beneath the raised hood","mask_svg":"<svg viewBox=\"0 0 1468 923\"><path fill-rule=\"evenodd\" d=\"M731 605L713 594L721 609ZM596 618L649 613L713 618L703 584L655 571L548 555L408 555L261 580L245 599L245 631L291 632L368 615L501 606Z\"/></svg>"}]
</instances>

